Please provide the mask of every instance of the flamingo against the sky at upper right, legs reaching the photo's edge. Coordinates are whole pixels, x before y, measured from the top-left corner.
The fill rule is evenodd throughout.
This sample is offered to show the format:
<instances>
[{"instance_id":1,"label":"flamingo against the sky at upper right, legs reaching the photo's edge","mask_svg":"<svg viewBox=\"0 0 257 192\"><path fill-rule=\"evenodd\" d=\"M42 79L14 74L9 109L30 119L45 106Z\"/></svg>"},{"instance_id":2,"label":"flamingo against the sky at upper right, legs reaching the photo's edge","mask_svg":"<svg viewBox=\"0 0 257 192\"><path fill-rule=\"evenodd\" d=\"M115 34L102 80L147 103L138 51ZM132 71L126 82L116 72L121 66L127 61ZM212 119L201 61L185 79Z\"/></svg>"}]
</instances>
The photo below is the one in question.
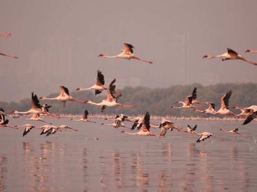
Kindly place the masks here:
<instances>
[{"instance_id":1,"label":"flamingo against the sky at upper right, legs reaching the photo's edge","mask_svg":"<svg viewBox=\"0 0 257 192\"><path fill-rule=\"evenodd\" d=\"M227 50L228 50L227 53L223 53L222 55L216 55L216 56L205 55L205 56L203 56L203 58L207 58L207 59L222 58L222 61L229 60L229 59L241 59L245 62L249 62L253 65L257 65L257 63L255 63L255 62L246 60L243 56L236 53L236 51L234 51L230 48L227 48ZM225 58L225 59L223 59L223 58Z\"/></svg>"}]
</instances>

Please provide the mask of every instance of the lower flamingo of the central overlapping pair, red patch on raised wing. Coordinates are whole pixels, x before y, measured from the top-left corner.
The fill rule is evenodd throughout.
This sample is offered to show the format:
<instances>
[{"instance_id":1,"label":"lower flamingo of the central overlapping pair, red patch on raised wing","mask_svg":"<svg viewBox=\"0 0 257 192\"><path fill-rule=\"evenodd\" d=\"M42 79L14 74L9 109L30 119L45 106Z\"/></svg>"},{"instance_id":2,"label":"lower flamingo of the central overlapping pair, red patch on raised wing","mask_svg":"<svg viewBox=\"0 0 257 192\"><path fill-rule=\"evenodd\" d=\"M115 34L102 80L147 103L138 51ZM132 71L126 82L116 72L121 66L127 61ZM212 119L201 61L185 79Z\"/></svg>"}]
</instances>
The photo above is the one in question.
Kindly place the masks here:
<instances>
[{"instance_id":1,"label":"lower flamingo of the central overlapping pair, red patch on raised wing","mask_svg":"<svg viewBox=\"0 0 257 192\"><path fill-rule=\"evenodd\" d=\"M110 85L107 88L107 99L102 100L100 103L94 103L90 100L88 100L88 104L92 105L100 105L101 106L101 111L104 112L105 107L135 107L134 105L124 105L124 104L119 104L117 102L118 98L121 97L121 94L118 96L115 96L115 93L118 93L115 91L115 85L113 85L116 82L116 79L113 79L113 81L110 83Z\"/></svg>"}]
</instances>

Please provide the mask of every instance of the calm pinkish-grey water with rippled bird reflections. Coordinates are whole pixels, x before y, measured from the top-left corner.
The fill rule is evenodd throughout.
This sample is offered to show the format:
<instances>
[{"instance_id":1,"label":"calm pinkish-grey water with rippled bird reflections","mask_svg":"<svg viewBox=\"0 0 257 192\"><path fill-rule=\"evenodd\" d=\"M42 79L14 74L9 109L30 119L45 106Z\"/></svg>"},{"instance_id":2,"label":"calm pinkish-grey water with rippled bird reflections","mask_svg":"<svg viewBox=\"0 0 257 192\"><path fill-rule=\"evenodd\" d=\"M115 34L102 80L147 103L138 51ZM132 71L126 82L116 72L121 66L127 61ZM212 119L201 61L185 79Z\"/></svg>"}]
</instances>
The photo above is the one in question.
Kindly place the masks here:
<instances>
[{"instance_id":1,"label":"calm pinkish-grey water with rippled bird reflections","mask_svg":"<svg viewBox=\"0 0 257 192\"><path fill-rule=\"evenodd\" d=\"M208 131L224 139L203 145L196 143L196 136L177 131L168 131L165 138L144 137L101 126L101 119L93 119L96 124L45 120L79 131L46 137L35 129L22 137L22 128L0 127L0 191L257 190L257 122L241 126L242 122L174 120L184 128L198 124L199 133ZM10 119L10 125L25 123L44 125ZM234 140L232 134L219 131L236 127L251 138Z\"/></svg>"}]
</instances>

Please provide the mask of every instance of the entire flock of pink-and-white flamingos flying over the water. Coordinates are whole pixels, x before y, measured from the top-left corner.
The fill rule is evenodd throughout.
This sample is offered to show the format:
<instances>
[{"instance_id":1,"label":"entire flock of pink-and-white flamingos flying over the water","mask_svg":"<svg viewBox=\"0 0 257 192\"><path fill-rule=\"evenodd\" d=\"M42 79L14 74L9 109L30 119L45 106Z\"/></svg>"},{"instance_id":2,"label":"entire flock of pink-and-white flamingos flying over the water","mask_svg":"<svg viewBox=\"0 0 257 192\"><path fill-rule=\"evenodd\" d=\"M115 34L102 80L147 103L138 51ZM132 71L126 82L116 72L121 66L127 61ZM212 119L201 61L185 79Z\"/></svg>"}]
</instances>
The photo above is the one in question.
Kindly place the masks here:
<instances>
[{"instance_id":1,"label":"entire flock of pink-and-white flamingos flying over the water","mask_svg":"<svg viewBox=\"0 0 257 192\"><path fill-rule=\"evenodd\" d=\"M1 37L11 37L11 34L0 33L0 36ZM124 49L121 50L120 54L118 54L116 56L107 56L105 54L100 54L99 57L137 59L137 60L146 62L148 64L152 64L152 62L149 61L149 60L140 59L138 56L135 56L133 54L133 48L135 48L135 47L132 46L131 44L124 43ZM257 53L257 51L246 50L246 53ZM0 52L0 55L8 56L8 57L11 57L11 58L14 58L14 59L18 58L16 56L10 56L10 55L7 55L7 54L1 53L1 52ZM207 58L207 59L222 58L222 61L229 60L229 59L241 59L241 60L243 60L245 62L248 62L250 64L257 65L256 62L252 62L252 61L249 61L249 60L245 59L243 56L239 55L238 53L236 53L234 50L232 50L230 48L227 48L227 52L223 53L221 55L217 55L217 56L205 55L205 56L203 56L203 58ZM102 102L100 102L100 103L94 103L93 101L90 101L90 100L82 101L82 100L75 99L72 96L70 96L68 88L66 88L64 86L60 86L61 93L60 93L59 96L57 96L55 98L46 98L46 97L37 98L37 95L34 94L34 92L32 92L31 93L31 109L30 110L28 110L28 111L14 110L14 111L11 112L11 114L7 114L7 113L5 113L3 108L0 108L0 126L1 127L10 127L10 128L13 128L13 129L18 129L19 127L25 127L24 132L23 132L23 136L27 135L31 131L31 129L33 129L33 128L41 129L40 135L45 134L46 136L54 134L57 131L63 131L63 130L67 130L67 129L77 131L76 129L73 129L70 126L67 126L67 125L53 126L52 123L44 121L41 118L42 116L50 116L50 117L54 117L54 118L60 118L60 116L56 115L56 114L51 114L49 112L49 108L52 107L52 106L49 106L47 104L41 105L39 100L57 100L57 101L61 101L62 104L63 104L63 107L65 107L66 101L75 101L75 102L79 102L79 103L83 103L83 104L87 103L87 104L101 106L101 111L102 112L104 112L106 107L120 107L120 108L135 107L134 105L118 103L118 99L122 96L122 93L120 91L115 90L115 88L116 88L115 82L116 82L116 79L113 79L112 82L109 84L109 86L105 86L104 75L102 74L102 72L100 70L97 70L97 78L96 78L96 84L95 85L93 85L90 88L77 88L76 89L76 91L83 91L83 90L93 89L95 91L95 95L100 94L104 90L106 90L107 98L102 100ZM221 97L221 107L220 107L220 109L215 111L215 104L214 103L212 103L212 102L200 103L199 101L196 100L196 98L197 98L197 88L195 87L193 89L192 93L189 96L186 96L186 101L177 101L177 103L182 104L180 107L171 106L170 108L172 108L172 109L182 109L182 108L193 109L196 112L201 112L201 113L206 113L206 114L216 114L216 115L219 115L221 117L224 117L224 115L232 115L234 117L245 118L245 120L243 122L243 125L250 123L257 115L257 105L252 105L250 107L237 107L237 106L235 106L233 108L241 110L241 113L240 114L234 114L232 111L229 110L229 98L231 97L231 95L232 95L232 90L229 90L226 94L224 94ZM209 107L207 109L200 109L200 108L196 107L196 105L201 105L201 104L203 104L203 105L209 104ZM9 126L8 125L9 120L5 119L5 116L24 119L23 117L19 117L18 114L31 115L31 118L25 119L25 120L42 121L42 122L50 124L50 125L34 126L32 124L25 124L25 125L22 125L22 126ZM88 119L88 114L89 114L88 111L85 110L84 115L83 115L83 117L81 117L81 119L78 119L78 120L71 119L71 120L96 123L95 121L91 121L91 120ZM127 131L122 131L121 132L121 133L131 134L131 135L165 137L165 134L167 133L168 130L172 131L173 129L175 129L179 132L191 133L192 137L193 137L193 134L198 135L199 138L197 139L197 142L204 141L205 139L210 139L211 136L216 137L212 133L208 133L208 132L197 133L196 132L197 125L195 125L193 128L190 125L187 125L187 130L184 130L183 128L176 126L174 123L169 121L167 118L163 118L159 125L157 125L155 123L150 123L150 114L148 112L146 112L145 117L143 117L143 118L142 117L136 117L134 119L130 119L128 116L126 116L124 114L120 114L120 115L116 115L116 117L114 119L105 119L105 120L114 121L114 123L112 123L112 124L102 123L101 125L113 126L114 128L124 127L124 128L130 129L131 131L135 130L135 129L139 130L136 133L129 133ZM126 127L123 123L124 121L131 122L132 127ZM160 128L161 129L160 135L156 135L156 134L150 132L150 128ZM247 138L246 136L244 136L244 135L242 135L241 133L238 132L238 128L233 129L233 130L229 130L229 131L224 130L224 129L220 129L220 131L225 131L227 133L234 134L235 139L236 139L237 134ZM209 142L210 141L211 140L209 140Z\"/></svg>"}]
</instances>

